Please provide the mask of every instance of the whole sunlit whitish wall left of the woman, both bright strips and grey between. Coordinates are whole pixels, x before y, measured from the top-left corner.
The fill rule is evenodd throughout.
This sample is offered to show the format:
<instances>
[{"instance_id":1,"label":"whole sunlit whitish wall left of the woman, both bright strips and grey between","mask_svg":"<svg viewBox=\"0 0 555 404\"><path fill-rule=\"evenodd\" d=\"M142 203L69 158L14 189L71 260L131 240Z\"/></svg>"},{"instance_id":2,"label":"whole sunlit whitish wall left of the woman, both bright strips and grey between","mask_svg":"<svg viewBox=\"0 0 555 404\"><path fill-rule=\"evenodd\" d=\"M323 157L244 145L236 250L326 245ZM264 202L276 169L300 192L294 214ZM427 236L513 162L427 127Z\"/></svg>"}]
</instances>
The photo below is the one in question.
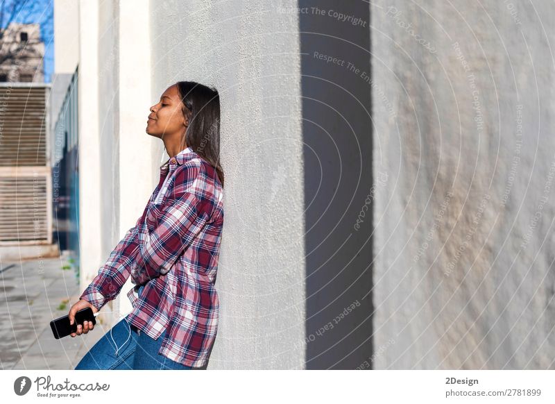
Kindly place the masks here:
<instances>
[{"instance_id":1,"label":"whole sunlit whitish wall left of the woman, both bright strips and grey between","mask_svg":"<svg viewBox=\"0 0 555 404\"><path fill-rule=\"evenodd\" d=\"M153 137L145 132L152 101L151 59L145 46L149 41L148 0L80 6L84 49L79 67L80 265L84 289L141 216L160 176L160 164L153 158ZM103 309L108 325L131 310L126 296L131 287L128 280Z\"/></svg>"}]
</instances>

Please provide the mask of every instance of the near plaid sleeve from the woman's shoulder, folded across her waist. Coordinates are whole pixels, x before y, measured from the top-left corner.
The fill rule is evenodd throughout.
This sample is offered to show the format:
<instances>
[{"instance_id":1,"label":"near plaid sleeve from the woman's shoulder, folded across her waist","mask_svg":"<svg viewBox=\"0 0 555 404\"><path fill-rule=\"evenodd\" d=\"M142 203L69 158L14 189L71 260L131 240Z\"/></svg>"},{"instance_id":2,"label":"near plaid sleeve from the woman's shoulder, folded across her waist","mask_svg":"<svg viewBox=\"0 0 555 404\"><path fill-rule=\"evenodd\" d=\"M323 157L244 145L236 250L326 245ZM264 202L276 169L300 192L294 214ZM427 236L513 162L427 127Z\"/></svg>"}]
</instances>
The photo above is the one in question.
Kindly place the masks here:
<instances>
[{"instance_id":1,"label":"near plaid sleeve from the woman's shoulder, folded across her waist","mask_svg":"<svg viewBox=\"0 0 555 404\"><path fill-rule=\"evenodd\" d=\"M155 223L138 228L139 248L131 282L142 285L167 273L210 219L213 187L198 163L178 167L173 187L162 205L153 205Z\"/></svg>"}]
</instances>

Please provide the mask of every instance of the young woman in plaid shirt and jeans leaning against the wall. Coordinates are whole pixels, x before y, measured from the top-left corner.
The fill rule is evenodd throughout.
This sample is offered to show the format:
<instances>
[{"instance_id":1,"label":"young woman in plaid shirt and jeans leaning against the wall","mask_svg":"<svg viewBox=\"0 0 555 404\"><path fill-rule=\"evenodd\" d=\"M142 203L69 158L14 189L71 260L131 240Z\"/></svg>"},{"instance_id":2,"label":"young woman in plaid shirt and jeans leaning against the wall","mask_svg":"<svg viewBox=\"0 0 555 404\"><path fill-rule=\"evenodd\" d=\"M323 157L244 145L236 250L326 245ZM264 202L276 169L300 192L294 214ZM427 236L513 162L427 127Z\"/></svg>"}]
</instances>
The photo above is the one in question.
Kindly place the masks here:
<instances>
[{"instance_id":1,"label":"young woman in plaid shirt and jeans leaning against the wall","mask_svg":"<svg viewBox=\"0 0 555 404\"><path fill-rule=\"evenodd\" d=\"M220 101L215 89L189 81L167 88L151 107L148 135L169 160L134 228L71 306L69 319L94 313L130 277L133 310L110 329L75 369L192 369L208 360L218 326L214 288L223 226L219 158ZM94 326L86 321L76 335Z\"/></svg>"}]
</instances>

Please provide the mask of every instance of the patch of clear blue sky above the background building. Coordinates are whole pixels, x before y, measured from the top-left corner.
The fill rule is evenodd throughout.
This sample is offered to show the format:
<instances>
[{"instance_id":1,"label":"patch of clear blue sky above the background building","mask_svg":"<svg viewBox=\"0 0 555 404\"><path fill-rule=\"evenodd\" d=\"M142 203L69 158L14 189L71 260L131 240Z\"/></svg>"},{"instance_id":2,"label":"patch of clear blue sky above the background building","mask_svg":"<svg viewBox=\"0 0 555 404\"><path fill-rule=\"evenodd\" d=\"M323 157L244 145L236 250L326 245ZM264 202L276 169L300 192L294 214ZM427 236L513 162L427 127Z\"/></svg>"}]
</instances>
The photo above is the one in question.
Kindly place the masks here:
<instances>
[{"instance_id":1,"label":"patch of clear blue sky above the background building","mask_svg":"<svg viewBox=\"0 0 555 404\"><path fill-rule=\"evenodd\" d=\"M10 4L13 1L18 0L0 0L0 4ZM54 69L53 0L19 0L19 2L24 2L25 6L12 22L40 24L41 39L44 42L44 81L50 83Z\"/></svg>"}]
</instances>

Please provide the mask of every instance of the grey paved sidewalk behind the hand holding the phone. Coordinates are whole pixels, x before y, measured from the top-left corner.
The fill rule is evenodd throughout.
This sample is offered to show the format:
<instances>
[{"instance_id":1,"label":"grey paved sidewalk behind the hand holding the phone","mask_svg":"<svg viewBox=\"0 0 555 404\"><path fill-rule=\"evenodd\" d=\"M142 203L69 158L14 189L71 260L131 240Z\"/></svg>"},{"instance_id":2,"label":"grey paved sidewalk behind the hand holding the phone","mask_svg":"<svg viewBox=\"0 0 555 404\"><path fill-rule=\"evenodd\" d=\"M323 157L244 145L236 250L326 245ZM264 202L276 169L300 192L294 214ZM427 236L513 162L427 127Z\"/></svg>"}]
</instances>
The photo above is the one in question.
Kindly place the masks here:
<instances>
[{"instance_id":1,"label":"grey paved sidewalk behind the hand holding the phone","mask_svg":"<svg viewBox=\"0 0 555 404\"><path fill-rule=\"evenodd\" d=\"M53 337L50 321L80 296L74 269L65 265L65 257L0 262L0 369L74 369L110 330L97 319L87 335Z\"/></svg>"}]
</instances>

